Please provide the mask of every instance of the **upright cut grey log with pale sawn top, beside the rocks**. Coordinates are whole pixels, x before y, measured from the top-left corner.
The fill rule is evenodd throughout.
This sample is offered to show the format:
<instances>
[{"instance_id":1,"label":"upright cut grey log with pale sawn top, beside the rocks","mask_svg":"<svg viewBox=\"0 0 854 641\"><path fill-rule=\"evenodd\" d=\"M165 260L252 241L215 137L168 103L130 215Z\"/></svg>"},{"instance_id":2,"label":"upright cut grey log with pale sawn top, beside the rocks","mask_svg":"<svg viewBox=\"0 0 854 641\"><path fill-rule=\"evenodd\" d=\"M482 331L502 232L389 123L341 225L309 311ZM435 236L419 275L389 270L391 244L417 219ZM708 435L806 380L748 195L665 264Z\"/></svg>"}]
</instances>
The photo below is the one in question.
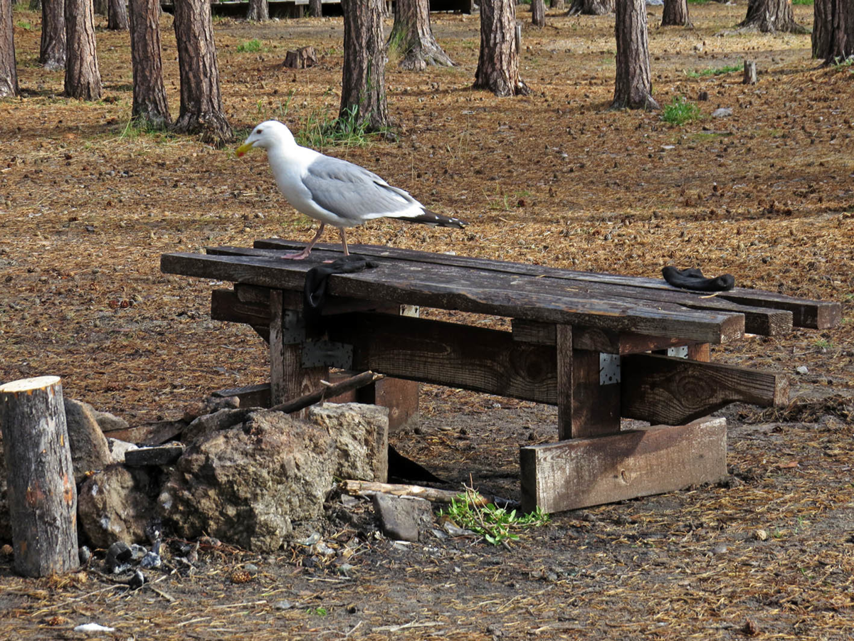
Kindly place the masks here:
<instances>
[{"instance_id":1,"label":"upright cut grey log with pale sawn top, beside the rocks","mask_svg":"<svg viewBox=\"0 0 854 641\"><path fill-rule=\"evenodd\" d=\"M61 574L79 566L77 490L59 376L0 386L15 571Z\"/></svg>"}]
</instances>

